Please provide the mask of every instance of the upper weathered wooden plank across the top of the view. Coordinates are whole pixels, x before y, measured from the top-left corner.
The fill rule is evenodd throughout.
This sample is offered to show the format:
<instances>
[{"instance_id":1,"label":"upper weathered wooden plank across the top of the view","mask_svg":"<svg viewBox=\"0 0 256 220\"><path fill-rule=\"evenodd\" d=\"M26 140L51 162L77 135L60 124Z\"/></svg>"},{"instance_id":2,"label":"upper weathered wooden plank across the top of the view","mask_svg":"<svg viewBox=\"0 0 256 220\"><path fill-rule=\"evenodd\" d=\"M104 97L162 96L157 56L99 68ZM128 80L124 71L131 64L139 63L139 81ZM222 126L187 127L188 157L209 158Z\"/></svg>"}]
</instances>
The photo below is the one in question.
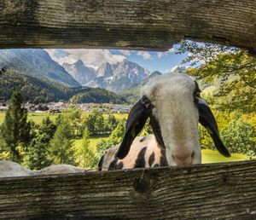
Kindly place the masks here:
<instances>
[{"instance_id":1,"label":"upper weathered wooden plank across the top of the view","mask_svg":"<svg viewBox=\"0 0 256 220\"><path fill-rule=\"evenodd\" d=\"M0 48L256 49L255 0L0 0Z\"/></svg>"}]
</instances>

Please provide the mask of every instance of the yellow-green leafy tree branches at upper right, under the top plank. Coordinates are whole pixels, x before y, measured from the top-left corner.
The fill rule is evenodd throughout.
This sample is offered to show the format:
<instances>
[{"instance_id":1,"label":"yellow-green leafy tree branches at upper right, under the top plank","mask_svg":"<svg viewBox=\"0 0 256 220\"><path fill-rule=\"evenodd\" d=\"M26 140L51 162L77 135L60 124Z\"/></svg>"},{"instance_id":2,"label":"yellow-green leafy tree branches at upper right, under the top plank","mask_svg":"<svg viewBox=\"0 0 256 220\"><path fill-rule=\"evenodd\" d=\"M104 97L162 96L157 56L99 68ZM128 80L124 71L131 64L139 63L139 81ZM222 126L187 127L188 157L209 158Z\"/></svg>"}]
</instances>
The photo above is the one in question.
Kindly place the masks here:
<instances>
[{"instance_id":1,"label":"yellow-green leafy tree branches at upper right, under the top plank","mask_svg":"<svg viewBox=\"0 0 256 220\"><path fill-rule=\"evenodd\" d=\"M256 110L256 58L246 50L213 43L183 41L178 54L189 51L183 62L190 62L195 68L188 73L205 83L217 82L213 92L214 105L220 110L253 113ZM218 100L216 99L218 98Z\"/></svg>"}]
</instances>

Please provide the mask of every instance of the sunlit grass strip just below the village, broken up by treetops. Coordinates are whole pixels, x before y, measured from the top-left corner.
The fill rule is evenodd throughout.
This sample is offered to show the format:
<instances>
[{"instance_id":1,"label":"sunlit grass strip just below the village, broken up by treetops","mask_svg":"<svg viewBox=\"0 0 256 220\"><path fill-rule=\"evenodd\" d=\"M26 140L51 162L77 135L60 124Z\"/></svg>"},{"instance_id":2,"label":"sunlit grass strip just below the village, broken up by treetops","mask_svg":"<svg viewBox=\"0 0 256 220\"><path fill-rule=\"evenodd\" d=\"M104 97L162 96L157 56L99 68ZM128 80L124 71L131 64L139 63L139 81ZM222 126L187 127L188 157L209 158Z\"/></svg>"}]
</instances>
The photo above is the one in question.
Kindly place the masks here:
<instances>
[{"instance_id":1,"label":"sunlit grass strip just below the village, broken up by treetops","mask_svg":"<svg viewBox=\"0 0 256 220\"><path fill-rule=\"evenodd\" d=\"M4 120L4 115L5 112L0 112L0 124L3 123ZM41 124L43 119L45 119L46 117L49 117L49 119L51 120L55 120L55 118L57 117L58 113L52 114L52 113L28 113L28 120L32 120L37 124ZM82 118L86 118L89 115L89 113L82 113ZM127 114L126 113L114 113L113 114L114 117L116 119L126 119L127 118ZM107 114L103 115L104 118L107 118Z\"/></svg>"}]
</instances>

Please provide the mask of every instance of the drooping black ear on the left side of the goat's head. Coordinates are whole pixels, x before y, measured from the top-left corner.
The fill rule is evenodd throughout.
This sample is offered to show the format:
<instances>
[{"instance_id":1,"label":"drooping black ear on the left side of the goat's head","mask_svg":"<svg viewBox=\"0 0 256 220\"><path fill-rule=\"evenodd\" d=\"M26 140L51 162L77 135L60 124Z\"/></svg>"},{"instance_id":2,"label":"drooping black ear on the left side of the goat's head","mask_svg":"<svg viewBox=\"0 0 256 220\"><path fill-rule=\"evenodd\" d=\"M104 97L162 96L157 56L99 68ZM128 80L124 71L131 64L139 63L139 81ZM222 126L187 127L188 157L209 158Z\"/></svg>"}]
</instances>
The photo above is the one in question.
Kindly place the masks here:
<instances>
[{"instance_id":1,"label":"drooping black ear on the left side of the goat's head","mask_svg":"<svg viewBox=\"0 0 256 220\"><path fill-rule=\"evenodd\" d=\"M151 107L146 97L143 97L131 108L126 122L125 136L119 146L119 151L116 153L117 158L124 159L129 153L131 143L141 130L143 130L143 126L146 124L150 113Z\"/></svg>"}]
</instances>

